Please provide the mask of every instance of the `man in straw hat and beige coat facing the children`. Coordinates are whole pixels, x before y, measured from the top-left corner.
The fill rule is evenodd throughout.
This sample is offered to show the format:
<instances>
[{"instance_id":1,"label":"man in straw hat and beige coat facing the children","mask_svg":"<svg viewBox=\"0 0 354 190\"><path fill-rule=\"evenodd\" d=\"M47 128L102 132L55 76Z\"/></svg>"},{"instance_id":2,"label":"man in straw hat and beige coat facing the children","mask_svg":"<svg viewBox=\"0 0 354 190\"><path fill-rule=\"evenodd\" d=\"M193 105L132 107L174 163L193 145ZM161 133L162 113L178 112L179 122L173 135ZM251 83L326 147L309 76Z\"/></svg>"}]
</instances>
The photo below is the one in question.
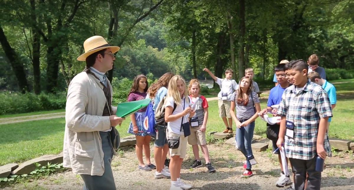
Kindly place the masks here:
<instances>
[{"instance_id":1,"label":"man in straw hat and beige coat facing the children","mask_svg":"<svg viewBox=\"0 0 354 190\"><path fill-rule=\"evenodd\" d=\"M84 42L85 70L70 82L65 108L63 166L84 180L84 190L115 190L111 169L119 133L115 126L124 118L115 115L112 86L105 73L112 69L117 46L102 36ZM118 142L117 142L118 141ZM118 144L118 145L117 145Z\"/></svg>"}]
</instances>

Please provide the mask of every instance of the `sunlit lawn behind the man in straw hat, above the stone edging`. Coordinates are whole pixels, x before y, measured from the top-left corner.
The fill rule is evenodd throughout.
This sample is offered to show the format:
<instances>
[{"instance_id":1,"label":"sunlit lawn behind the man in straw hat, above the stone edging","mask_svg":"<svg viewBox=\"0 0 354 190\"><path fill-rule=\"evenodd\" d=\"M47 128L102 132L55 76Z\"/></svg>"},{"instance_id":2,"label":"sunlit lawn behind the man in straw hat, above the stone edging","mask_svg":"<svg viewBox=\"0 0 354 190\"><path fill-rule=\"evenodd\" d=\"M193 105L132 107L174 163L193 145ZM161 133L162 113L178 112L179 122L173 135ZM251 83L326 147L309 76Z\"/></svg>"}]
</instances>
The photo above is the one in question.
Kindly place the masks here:
<instances>
[{"instance_id":1,"label":"sunlit lawn behind the man in straw hat, above the stone edging","mask_svg":"<svg viewBox=\"0 0 354 190\"><path fill-rule=\"evenodd\" d=\"M129 136L127 118L117 129ZM0 166L21 163L45 154L63 151L65 118L27 121L0 125Z\"/></svg>"}]
</instances>

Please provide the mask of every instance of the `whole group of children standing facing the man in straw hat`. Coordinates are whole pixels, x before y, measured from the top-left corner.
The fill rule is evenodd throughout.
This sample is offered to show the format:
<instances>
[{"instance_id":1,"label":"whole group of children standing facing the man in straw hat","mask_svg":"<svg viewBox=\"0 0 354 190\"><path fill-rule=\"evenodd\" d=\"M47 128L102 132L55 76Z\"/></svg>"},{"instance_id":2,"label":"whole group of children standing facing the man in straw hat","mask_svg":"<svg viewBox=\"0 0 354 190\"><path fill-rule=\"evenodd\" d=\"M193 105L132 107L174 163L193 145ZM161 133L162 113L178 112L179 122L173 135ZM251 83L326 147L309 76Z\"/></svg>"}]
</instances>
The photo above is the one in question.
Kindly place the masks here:
<instances>
[{"instance_id":1,"label":"whole group of children standing facing the man in straw hat","mask_svg":"<svg viewBox=\"0 0 354 190\"><path fill-rule=\"evenodd\" d=\"M311 72L309 72L310 69L312 69ZM321 172L315 171L315 163L317 157L325 159L326 156L331 156L327 132L332 109L336 104L335 88L324 79L325 74L322 69L318 67L316 55L310 56L307 63L302 60L281 61L274 67L276 86L270 91L267 108L263 110L261 110L257 95L258 84L253 81L253 69L245 70L245 76L239 84L232 79L231 69L225 71L225 79L216 77L207 68L204 69L221 90L218 93L218 107L219 116L226 126L223 132L233 133L232 120L236 124L236 148L244 154L246 159L245 172L242 177L251 177L253 175L252 165L256 164L251 148L255 120L259 115L272 113L273 116L281 116L279 123L267 124L267 127L276 134L276 137L271 139L273 151L278 149L275 152L279 154L279 150L285 149L286 157L289 158L292 166L294 180L292 183L290 176L285 175L282 165L287 165L287 163L282 163L279 155L282 172L276 186L284 187L292 184L288 189L296 190L320 188ZM187 143L192 145L195 157L190 168L202 166L199 145L208 171L216 171L210 162L205 138L209 115L208 103L199 91L198 80L192 79L187 87L182 76L169 72L162 75L149 88L147 78L144 75L138 75L134 79L128 96L128 101L152 99L154 111L159 102L164 101L164 118L167 126L156 125L154 143L156 166L150 162L151 136L143 127L144 109L131 116L128 133L137 136L138 168L145 171L156 169L156 179L171 178L170 189L173 190L192 188L192 185L185 184L180 179ZM192 104L195 107L192 108ZM277 104L279 104L278 109L272 108ZM169 139L178 139L178 147L169 148L167 146ZM146 165L143 162L143 150Z\"/></svg>"}]
</instances>

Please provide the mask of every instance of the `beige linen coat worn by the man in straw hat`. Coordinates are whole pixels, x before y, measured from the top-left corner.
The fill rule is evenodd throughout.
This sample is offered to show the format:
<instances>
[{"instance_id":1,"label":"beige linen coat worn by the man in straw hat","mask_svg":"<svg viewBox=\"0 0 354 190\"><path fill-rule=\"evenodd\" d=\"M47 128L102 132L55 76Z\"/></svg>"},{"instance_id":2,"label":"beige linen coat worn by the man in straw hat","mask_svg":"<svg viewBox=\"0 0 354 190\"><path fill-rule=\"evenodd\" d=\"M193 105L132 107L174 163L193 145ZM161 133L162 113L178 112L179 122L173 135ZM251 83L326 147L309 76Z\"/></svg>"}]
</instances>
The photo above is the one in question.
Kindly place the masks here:
<instances>
[{"instance_id":1,"label":"beige linen coat worn by the man in straw hat","mask_svg":"<svg viewBox=\"0 0 354 190\"><path fill-rule=\"evenodd\" d=\"M109 81L107 85L113 94ZM107 101L102 89L100 81L86 72L76 75L69 85L65 107L63 166L72 168L75 174L101 176L104 173L99 131L110 129L111 125L109 117L102 116ZM112 112L116 113L116 107L112 106Z\"/></svg>"}]
</instances>

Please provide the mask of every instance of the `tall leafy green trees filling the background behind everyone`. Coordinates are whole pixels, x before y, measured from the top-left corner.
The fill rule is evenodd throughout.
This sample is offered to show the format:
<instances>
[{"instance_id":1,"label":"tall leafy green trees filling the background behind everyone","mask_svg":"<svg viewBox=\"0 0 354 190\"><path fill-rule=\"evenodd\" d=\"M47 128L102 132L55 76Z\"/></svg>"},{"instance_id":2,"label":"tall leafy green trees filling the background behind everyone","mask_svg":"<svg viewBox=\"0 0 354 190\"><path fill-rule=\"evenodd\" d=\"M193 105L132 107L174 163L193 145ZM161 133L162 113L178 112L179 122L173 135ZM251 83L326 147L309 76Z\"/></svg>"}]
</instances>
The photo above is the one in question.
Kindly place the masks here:
<instances>
[{"instance_id":1,"label":"tall leafy green trees filling the background behind everyone","mask_svg":"<svg viewBox=\"0 0 354 190\"><path fill-rule=\"evenodd\" d=\"M92 35L121 47L108 72L118 80L166 71L209 78L204 67L218 77L233 68L240 78L252 67L261 82L281 59L313 53L329 79L348 78L330 69L354 69L353 8L352 0L4 0L0 89L65 91L84 68L76 57Z\"/></svg>"}]
</instances>

